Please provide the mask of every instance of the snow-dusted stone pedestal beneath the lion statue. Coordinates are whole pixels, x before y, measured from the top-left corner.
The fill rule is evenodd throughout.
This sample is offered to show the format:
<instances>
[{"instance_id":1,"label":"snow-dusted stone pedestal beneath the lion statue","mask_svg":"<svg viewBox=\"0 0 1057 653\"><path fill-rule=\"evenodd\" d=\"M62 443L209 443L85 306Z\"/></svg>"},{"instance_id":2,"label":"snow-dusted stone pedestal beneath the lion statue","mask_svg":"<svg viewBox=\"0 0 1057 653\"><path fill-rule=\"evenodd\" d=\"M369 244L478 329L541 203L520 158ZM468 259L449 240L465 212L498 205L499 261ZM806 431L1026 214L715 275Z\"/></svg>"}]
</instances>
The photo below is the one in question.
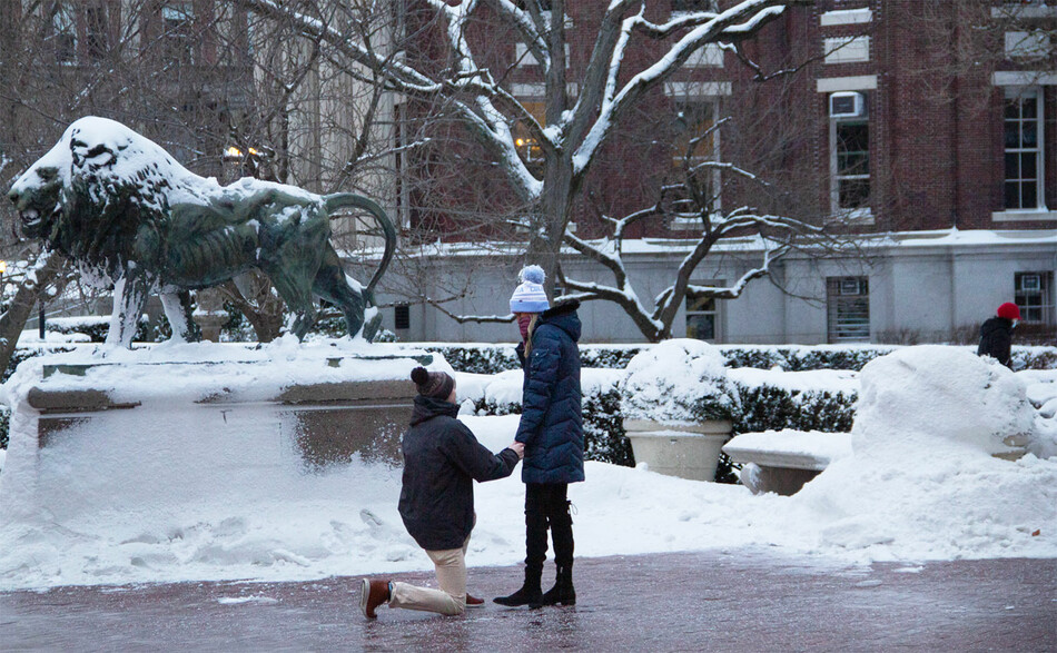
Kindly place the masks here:
<instances>
[{"instance_id":1,"label":"snow-dusted stone pedestal beneath the lion statue","mask_svg":"<svg viewBox=\"0 0 1057 653\"><path fill-rule=\"evenodd\" d=\"M381 357L353 356L308 359L304 365L319 366L320 377L333 377L333 368L342 366L381 365L392 372L394 367L409 370L418 363L392 357L386 364ZM246 377L251 379L255 373L266 372L268 365L266 360L46 364L39 383L29 387L26 404L39 413L37 436L41 448L62 438L91 437L92 433L111 429L152 432L159 444L171 439L188 445L201 436L224 439L257 434L261 444L276 441L267 444L289 445L306 471L346 464L356 455L368 463L399 463L401 435L415 396L411 380L295 380L271 392L255 392ZM105 370L107 380L92 387L92 373L103 367L111 368ZM113 387L113 378L120 378L121 372L127 373L129 384ZM300 372L313 376L310 369ZM164 387L137 387L135 378L142 373L148 375L149 384L171 382L171 396ZM224 375L241 378L246 385L214 387L214 379ZM70 377L83 380L70 383Z\"/></svg>"}]
</instances>

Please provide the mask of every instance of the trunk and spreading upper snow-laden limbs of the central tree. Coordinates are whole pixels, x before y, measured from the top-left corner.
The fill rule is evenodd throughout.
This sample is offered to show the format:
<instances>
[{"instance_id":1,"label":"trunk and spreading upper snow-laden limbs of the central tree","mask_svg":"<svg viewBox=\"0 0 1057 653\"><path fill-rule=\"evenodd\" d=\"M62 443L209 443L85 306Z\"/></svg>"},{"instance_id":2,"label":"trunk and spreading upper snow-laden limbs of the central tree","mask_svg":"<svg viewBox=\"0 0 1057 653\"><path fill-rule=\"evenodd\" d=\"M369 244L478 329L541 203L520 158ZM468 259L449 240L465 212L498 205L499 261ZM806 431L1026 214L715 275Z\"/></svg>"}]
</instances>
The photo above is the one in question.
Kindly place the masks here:
<instances>
[{"instance_id":1,"label":"trunk and spreading upper snow-laden limbs of the central tree","mask_svg":"<svg viewBox=\"0 0 1057 653\"><path fill-rule=\"evenodd\" d=\"M664 22L648 20L651 0L610 0L604 4L586 67L565 66L565 3L552 0L544 11L536 0L418 0L411 6L429 12L437 29L417 39L439 39L452 58L441 71L416 68L411 58L374 51L355 37L279 0L228 0L260 16L298 26L308 39L327 42L356 66L375 70L386 88L409 97L439 100L455 111L492 160L505 174L514 194L534 206L526 255L543 265L547 283L556 278L557 257L573 202L602 146L621 120L652 90L671 78L698 50L709 43L732 47L757 34L788 7L812 0L742 0L720 11L669 13ZM659 1L659 0L658 0ZM665 10L670 7L661 2ZM312 3L307 3L312 6ZM497 21L517 34L540 65L546 98L541 121L525 110L503 83L482 66L467 24L475 17ZM577 30L585 29L577 26ZM366 30L363 30L366 31ZM414 48L399 43L394 49ZM640 44L649 43L649 48ZM495 43L493 43L495 44ZM661 47L658 47L661 44ZM625 79L625 55L651 55L644 69ZM577 75L576 79L571 76ZM567 88L575 83L576 96ZM522 160L513 126L520 125L540 148L541 166Z\"/></svg>"}]
</instances>

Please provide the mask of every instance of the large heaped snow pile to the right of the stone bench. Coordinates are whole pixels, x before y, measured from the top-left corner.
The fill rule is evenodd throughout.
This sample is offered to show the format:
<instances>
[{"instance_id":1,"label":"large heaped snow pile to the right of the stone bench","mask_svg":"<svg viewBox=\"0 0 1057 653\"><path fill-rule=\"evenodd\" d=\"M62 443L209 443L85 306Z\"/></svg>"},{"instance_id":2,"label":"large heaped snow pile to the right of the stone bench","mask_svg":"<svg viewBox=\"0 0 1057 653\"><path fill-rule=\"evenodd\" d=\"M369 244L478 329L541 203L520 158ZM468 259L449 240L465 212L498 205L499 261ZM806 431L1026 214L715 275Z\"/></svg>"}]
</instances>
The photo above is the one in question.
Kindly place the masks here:
<instances>
[{"instance_id":1,"label":"large heaped snow pile to the right of the stone bench","mask_svg":"<svg viewBox=\"0 0 1057 653\"><path fill-rule=\"evenodd\" d=\"M991 455L1033 431L1012 373L921 346L870 363L861 383L852 455L790 497L821 547L875 560L1054 554L1057 461Z\"/></svg>"}]
</instances>

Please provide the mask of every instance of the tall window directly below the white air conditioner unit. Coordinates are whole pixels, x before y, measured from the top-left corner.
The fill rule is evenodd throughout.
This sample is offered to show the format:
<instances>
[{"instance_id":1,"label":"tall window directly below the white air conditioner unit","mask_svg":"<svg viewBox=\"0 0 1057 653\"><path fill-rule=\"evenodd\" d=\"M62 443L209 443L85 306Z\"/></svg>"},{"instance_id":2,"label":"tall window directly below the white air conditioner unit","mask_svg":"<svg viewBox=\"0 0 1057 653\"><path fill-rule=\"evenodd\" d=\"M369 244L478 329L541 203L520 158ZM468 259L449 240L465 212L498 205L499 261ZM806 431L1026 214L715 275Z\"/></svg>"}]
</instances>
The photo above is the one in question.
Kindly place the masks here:
<instances>
[{"instance_id":1,"label":"tall window directly below the white air conditioner unit","mask_svg":"<svg viewBox=\"0 0 1057 653\"><path fill-rule=\"evenodd\" d=\"M830 119L830 205L834 215L867 217L870 211L870 122L859 117Z\"/></svg>"}]
</instances>

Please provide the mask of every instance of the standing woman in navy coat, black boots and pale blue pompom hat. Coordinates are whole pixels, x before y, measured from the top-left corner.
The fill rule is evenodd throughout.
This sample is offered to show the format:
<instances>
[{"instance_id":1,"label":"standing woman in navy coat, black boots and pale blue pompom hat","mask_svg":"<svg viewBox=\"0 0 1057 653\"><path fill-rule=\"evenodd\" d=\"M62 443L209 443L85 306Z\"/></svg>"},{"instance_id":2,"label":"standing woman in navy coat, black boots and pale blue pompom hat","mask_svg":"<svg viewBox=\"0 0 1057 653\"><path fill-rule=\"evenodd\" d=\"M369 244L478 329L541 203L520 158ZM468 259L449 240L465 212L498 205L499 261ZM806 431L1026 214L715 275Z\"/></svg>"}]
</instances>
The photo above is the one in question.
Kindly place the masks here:
<instances>
[{"instance_id":1,"label":"standing woman in navy coat, black boots and pale blue pompom hat","mask_svg":"<svg viewBox=\"0 0 1057 653\"><path fill-rule=\"evenodd\" d=\"M575 605L573 520L569 484L584 479L583 415L580 390L580 303L550 308L543 268L531 265L511 297L522 342L517 357L525 372L516 442L525 445L521 478L525 483L525 584L500 605ZM554 542L557 581L543 594L546 534Z\"/></svg>"}]
</instances>

